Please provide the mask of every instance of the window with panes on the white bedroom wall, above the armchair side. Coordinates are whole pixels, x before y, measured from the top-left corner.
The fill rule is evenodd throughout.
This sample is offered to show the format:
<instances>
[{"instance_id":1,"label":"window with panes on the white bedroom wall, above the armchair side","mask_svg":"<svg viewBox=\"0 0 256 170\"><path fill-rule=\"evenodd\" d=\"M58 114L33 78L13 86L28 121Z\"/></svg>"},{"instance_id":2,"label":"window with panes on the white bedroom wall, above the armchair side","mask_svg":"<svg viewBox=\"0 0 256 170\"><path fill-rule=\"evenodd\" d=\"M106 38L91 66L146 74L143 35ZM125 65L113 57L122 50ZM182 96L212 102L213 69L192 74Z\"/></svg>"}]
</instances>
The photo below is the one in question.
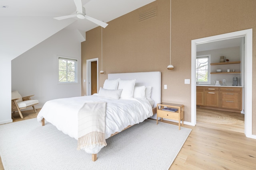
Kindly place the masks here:
<instances>
[{"instance_id":1,"label":"window with panes on the white bedroom wall, above the armchair side","mask_svg":"<svg viewBox=\"0 0 256 170\"><path fill-rule=\"evenodd\" d=\"M58 57L59 83L77 83L77 60Z\"/></svg>"}]
</instances>

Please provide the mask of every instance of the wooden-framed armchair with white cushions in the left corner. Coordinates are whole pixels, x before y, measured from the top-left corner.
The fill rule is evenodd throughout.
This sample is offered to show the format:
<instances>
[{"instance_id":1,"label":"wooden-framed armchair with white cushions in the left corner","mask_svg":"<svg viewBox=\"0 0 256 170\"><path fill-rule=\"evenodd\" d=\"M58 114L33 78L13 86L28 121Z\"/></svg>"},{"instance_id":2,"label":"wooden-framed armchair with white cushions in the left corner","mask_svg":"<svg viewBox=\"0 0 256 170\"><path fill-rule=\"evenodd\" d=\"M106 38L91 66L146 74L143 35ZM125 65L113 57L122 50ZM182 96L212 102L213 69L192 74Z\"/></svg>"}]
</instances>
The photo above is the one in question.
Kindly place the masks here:
<instances>
[{"instance_id":1,"label":"wooden-framed armchair with white cushions in the left corner","mask_svg":"<svg viewBox=\"0 0 256 170\"><path fill-rule=\"evenodd\" d=\"M34 96L34 95L32 95ZM18 111L20 114L20 117L23 119L23 115L20 111L20 109L25 109L27 107L33 107L34 111L36 112L36 109L34 107L34 105L38 104L38 100L31 100L30 97L32 96L26 96L23 97L19 94L18 91L14 91L12 92L12 111L13 113L15 111Z\"/></svg>"}]
</instances>

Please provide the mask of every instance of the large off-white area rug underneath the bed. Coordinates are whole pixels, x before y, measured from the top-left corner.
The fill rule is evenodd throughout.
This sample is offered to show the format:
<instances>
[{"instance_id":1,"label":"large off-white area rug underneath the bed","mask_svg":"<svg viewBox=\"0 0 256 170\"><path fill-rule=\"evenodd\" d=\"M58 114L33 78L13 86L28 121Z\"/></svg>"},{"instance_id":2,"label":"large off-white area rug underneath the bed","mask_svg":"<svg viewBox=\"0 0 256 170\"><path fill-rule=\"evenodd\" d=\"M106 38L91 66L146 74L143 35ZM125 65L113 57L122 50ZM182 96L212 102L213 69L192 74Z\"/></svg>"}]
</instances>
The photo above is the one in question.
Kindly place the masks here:
<instances>
[{"instance_id":1,"label":"large off-white area rug underneath the bed","mask_svg":"<svg viewBox=\"0 0 256 170\"><path fill-rule=\"evenodd\" d=\"M190 131L147 119L108 138L92 162L76 139L34 118L0 125L0 156L5 170L168 170Z\"/></svg>"}]
</instances>

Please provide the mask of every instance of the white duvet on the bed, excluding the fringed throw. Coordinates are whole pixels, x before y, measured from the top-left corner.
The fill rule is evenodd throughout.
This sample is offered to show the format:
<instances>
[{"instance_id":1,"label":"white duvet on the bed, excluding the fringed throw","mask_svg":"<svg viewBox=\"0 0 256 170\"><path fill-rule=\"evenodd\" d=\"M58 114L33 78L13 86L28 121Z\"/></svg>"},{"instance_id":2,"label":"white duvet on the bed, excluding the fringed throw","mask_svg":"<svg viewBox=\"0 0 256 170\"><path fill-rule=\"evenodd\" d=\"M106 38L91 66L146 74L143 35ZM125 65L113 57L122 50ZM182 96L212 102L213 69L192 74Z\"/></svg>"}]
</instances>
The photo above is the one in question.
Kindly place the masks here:
<instances>
[{"instance_id":1,"label":"white duvet on the bed, excluding the fringed throw","mask_svg":"<svg viewBox=\"0 0 256 170\"><path fill-rule=\"evenodd\" d=\"M153 115L152 106L143 98L111 99L92 96L50 100L38 113L37 120L44 118L58 130L78 139L78 111L85 102L107 102L105 137L120 132L129 125L140 123ZM99 151L99 150L98 150ZM97 152L98 152L97 151ZM87 151L86 152L90 152Z\"/></svg>"}]
</instances>

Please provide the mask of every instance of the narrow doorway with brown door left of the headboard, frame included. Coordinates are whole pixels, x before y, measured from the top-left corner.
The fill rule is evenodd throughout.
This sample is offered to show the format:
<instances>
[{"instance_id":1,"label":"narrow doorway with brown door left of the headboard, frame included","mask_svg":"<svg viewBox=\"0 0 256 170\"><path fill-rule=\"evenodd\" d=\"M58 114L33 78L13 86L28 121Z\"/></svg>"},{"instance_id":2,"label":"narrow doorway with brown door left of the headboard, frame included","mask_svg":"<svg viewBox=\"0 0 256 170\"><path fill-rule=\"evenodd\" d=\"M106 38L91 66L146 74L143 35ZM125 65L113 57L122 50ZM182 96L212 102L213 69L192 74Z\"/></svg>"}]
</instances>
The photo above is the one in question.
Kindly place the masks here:
<instances>
[{"instance_id":1,"label":"narrow doorway with brown door left of the headboard, frame included","mask_svg":"<svg viewBox=\"0 0 256 170\"><path fill-rule=\"evenodd\" d=\"M86 95L98 93L98 58L86 60Z\"/></svg>"}]
</instances>

